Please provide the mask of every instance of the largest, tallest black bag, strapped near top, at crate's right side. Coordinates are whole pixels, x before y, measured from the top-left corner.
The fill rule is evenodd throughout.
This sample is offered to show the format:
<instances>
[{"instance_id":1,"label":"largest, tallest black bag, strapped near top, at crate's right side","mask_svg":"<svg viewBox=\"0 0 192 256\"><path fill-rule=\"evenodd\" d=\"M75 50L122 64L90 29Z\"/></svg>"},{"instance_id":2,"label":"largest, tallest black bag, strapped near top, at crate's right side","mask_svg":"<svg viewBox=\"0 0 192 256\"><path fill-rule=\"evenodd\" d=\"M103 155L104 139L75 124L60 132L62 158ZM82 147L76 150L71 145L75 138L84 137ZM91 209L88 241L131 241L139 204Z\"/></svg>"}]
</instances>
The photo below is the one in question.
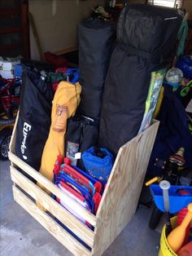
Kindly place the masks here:
<instances>
[{"instance_id":1,"label":"largest, tallest black bag, strapped near top, at crate's right side","mask_svg":"<svg viewBox=\"0 0 192 256\"><path fill-rule=\"evenodd\" d=\"M124 8L103 93L99 147L117 154L137 135L151 72L170 61L181 20L174 9L141 4Z\"/></svg>"}]
</instances>

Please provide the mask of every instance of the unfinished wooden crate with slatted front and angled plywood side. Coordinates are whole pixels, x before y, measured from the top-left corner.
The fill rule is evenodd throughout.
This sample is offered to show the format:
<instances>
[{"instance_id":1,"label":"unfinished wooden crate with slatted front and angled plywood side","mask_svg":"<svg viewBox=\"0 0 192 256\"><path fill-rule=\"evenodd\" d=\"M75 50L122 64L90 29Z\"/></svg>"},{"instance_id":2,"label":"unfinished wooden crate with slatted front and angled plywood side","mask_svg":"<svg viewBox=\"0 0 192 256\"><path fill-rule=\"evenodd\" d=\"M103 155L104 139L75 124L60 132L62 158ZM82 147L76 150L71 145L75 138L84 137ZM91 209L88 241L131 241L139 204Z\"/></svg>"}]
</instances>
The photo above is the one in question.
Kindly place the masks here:
<instances>
[{"instance_id":1,"label":"unfinished wooden crate with slatted front and angled plywood side","mask_svg":"<svg viewBox=\"0 0 192 256\"><path fill-rule=\"evenodd\" d=\"M137 135L137 137L120 148L96 216L90 214L79 203L71 199L72 205L76 207L78 213L94 226L94 231L81 223L51 196L47 195L35 183L26 178L24 174L20 173L18 167L41 183L55 196L61 199L63 195L68 196L51 183L50 180L15 156L14 129L9 158L11 160L11 179L13 181L15 201L41 223L50 234L55 236L72 254L80 256L102 255L116 239L116 236L130 222L137 209L158 126L159 122L154 121L152 126L142 134ZM40 210L35 201L41 203L47 212ZM91 249L87 249L81 242L77 241L74 236L55 221L55 218L58 218L61 223L67 226L85 244L89 245Z\"/></svg>"}]
</instances>

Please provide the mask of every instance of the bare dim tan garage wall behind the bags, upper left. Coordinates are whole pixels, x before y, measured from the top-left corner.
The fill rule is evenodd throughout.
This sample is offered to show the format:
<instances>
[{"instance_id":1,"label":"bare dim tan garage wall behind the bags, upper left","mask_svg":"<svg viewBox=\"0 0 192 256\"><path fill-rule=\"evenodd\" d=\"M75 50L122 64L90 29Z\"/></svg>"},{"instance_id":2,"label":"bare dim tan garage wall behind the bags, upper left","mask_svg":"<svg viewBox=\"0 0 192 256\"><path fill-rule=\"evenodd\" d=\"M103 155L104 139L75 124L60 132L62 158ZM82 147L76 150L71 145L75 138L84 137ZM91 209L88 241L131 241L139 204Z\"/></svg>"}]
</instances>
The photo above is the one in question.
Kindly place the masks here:
<instances>
[{"instance_id":1,"label":"bare dim tan garage wall behind the bags, upper left","mask_svg":"<svg viewBox=\"0 0 192 256\"><path fill-rule=\"evenodd\" d=\"M60 51L77 45L77 24L87 18L91 7L104 0L29 0L42 51ZM39 60L37 45L30 29L31 57Z\"/></svg>"}]
</instances>

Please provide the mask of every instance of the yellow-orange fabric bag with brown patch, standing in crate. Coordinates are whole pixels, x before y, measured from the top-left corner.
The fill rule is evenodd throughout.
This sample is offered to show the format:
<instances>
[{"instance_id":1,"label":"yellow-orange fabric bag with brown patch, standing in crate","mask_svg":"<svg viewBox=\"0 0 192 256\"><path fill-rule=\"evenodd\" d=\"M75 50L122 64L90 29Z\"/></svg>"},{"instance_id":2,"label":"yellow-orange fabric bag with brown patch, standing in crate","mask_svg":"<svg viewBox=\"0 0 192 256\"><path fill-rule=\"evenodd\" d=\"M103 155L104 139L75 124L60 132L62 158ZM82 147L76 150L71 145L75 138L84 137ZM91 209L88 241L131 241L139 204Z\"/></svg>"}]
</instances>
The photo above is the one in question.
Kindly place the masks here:
<instances>
[{"instance_id":1,"label":"yellow-orange fabric bag with brown patch, standing in crate","mask_svg":"<svg viewBox=\"0 0 192 256\"><path fill-rule=\"evenodd\" d=\"M67 119L74 116L80 103L81 86L79 83L60 82L55 92L51 126L41 157L40 173L53 181L53 169L57 156L64 156L64 142Z\"/></svg>"}]
</instances>

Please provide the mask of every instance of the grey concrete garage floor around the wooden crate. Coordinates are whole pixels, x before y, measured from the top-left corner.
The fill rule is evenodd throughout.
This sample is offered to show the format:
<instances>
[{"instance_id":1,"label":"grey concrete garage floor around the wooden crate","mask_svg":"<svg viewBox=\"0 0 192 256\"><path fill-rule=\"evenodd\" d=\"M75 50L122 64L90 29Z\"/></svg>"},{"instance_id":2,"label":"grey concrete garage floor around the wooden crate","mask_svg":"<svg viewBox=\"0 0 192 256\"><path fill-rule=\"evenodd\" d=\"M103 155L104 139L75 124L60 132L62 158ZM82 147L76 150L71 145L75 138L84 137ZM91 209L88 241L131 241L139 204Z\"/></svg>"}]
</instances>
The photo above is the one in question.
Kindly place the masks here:
<instances>
[{"instance_id":1,"label":"grey concrete garage floor around the wooden crate","mask_svg":"<svg viewBox=\"0 0 192 256\"><path fill-rule=\"evenodd\" d=\"M9 161L0 161L0 255L71 256L44 227L13 201ZM148 227L150 210L139 208L103 256L156 256L160 235Z\"/></svg>"}]
</instances>

